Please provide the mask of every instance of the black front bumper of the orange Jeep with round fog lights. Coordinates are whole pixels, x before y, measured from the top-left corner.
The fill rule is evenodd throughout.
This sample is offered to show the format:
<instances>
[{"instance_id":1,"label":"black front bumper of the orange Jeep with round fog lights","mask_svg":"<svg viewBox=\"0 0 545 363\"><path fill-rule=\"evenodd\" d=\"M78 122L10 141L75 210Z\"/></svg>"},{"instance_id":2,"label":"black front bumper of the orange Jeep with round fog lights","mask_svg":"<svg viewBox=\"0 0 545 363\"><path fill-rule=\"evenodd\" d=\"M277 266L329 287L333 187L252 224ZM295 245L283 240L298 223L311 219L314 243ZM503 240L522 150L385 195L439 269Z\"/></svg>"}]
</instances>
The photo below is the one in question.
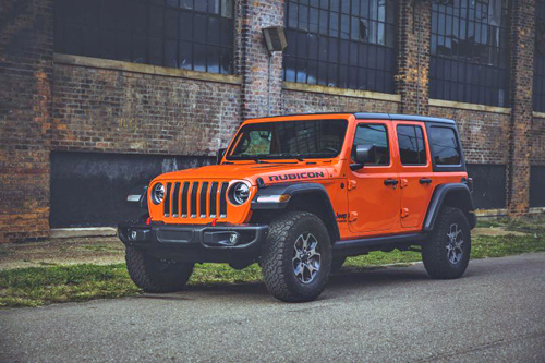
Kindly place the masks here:
<instances>
[{"instance_id":1,"label":"black front bumper of the orange Jeep with round fog lights","mask_svg":"<svg viewBox=\"0 0 545 363\"><path fill-rule=\"evenodd\" d=\"M266 240L268 226L145 225L122 222L118 235L133 247L171 252L197 252L206 259L214 252L255 251Z\"/></svg>"}]
</instances>

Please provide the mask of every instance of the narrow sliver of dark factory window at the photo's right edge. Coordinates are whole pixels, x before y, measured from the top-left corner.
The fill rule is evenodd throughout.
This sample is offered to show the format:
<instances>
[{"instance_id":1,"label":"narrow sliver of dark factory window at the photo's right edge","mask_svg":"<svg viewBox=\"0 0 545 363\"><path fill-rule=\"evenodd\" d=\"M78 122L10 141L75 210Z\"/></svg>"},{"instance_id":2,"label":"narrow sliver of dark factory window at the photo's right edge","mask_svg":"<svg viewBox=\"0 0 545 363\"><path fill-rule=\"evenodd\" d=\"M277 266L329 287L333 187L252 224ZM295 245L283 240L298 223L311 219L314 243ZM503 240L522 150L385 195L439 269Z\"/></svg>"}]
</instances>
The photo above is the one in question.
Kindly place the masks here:
<instances>
[{"instance_id":1,"label":"narrow sliver of dark factory window at the photo's right edge","mask_svg":"<svg viewBox=\"0 0 545 363\"><path fill-rule=\"evenodd\" d=\"M545 112L545 0L535 1L534 110Z\"/></svg>"}]
</instances>

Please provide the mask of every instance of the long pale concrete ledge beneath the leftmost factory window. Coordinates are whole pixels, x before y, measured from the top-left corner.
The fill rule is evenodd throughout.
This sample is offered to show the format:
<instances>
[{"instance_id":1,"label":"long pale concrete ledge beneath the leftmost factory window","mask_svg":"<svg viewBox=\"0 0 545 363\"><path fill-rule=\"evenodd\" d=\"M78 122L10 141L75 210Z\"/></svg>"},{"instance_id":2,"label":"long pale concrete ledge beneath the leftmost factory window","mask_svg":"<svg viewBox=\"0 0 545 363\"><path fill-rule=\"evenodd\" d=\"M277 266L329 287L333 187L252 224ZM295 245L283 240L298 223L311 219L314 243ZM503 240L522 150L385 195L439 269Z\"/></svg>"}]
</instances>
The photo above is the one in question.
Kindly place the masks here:
<instances>
[{"instance_id":1,"label":"long pale concrete ledge beneath the leftmost factory window","mask_svg":"<svg viewBox=\"0 0 545 363\"><path fill-rule=\"evenodd\" d=\"M134 72L134 73L153 74L153 75L166 75L170 77L228 83L237 85L242 84L242 77L239 75L187 71L187 70L180 70L177 68L132 63L132 62L124 62L111 59L55 53L53 62L59 64L97 68L101 70L124 71L124 72Z\"/></svg>"}]
</instances>

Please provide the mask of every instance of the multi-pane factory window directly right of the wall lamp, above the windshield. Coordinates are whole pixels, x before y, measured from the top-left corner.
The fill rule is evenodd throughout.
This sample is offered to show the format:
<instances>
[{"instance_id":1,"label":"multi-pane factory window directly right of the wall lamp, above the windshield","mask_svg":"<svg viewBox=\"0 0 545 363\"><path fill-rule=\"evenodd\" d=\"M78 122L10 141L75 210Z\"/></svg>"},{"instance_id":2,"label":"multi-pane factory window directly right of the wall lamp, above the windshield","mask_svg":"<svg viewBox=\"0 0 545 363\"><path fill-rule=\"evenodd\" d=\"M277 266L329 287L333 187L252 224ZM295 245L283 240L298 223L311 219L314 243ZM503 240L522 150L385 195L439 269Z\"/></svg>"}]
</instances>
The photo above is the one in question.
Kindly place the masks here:
<instances>
[{"instance_id":1,"label":"multi-pane factory window directly right of the wall lamp, above the windshield","mask_svg":"<svg viewBox=\"0 0 545 363\"><path fill-rule=\"evenodd\" d=\"M286 0L283 78L393 93L395 0Z\"/></svg>"}]
</instances>

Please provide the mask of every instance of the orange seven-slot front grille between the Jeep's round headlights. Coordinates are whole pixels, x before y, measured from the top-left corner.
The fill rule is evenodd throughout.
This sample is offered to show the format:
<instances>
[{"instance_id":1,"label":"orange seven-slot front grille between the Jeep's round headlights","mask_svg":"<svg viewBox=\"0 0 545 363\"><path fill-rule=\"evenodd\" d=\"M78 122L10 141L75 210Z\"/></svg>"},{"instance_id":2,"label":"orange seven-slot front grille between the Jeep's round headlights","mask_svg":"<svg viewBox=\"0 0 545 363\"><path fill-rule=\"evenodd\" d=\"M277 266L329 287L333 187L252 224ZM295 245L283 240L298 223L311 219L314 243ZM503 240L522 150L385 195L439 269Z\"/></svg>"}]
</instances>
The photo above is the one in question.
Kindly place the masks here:
<instances>
[{"instance_id":1,"label":"orange seven-slot front grille between the Jeep's round headlights","mask_svg":"<svg viewBox=\"0 0 545 363\"><path fill-rule=\"evenodd\" d=\"M164 211L169 218L226 218L228 182L168 182ZM219 210L219 215L218 215Z\"/></svg>"}]
</instances>

